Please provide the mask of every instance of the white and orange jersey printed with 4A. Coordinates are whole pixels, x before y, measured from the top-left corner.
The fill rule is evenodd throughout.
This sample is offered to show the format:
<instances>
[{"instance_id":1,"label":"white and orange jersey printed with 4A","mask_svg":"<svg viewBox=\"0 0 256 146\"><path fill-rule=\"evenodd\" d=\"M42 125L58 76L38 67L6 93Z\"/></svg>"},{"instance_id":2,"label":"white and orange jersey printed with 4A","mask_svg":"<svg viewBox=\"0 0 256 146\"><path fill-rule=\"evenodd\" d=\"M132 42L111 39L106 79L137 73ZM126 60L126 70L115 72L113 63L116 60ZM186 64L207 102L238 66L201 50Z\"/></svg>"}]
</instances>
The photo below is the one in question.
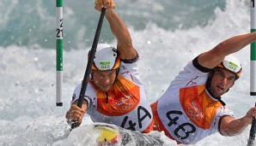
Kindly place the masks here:
<instances>
[{"instance_id":1,"label":"white and orange jersey printed with 4A","mask_svg":"<svg viewBox=\"0 0 256 146\"><path fill-rule=\"evenodd\" d=\"M137 59L138 61L139 59ZM149 132L153 129L153 115L144 87L138 76L137 61L121 62L118 80L107 95L91 81L84 99L88 102L87 114L94 122L104 122L125 129ZM79 98L82 84L76 86L72 102Z\"/></svg>"}]
</instances>

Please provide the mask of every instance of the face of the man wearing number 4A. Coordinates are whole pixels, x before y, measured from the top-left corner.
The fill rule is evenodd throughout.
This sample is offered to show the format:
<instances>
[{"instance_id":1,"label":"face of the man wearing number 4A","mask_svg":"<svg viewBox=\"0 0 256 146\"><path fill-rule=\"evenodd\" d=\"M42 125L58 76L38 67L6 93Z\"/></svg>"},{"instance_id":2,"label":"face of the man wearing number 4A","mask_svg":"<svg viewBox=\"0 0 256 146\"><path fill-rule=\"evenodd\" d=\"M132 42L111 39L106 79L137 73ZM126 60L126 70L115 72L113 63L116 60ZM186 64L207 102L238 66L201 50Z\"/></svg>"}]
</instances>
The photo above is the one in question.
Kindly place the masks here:
<instances>
[{"instance_id":1,"label":"face of the man wearing number 4A","mask_svg":"<svg viewBox=\"0 0 256 146\"><path fill-rule=\"evenodd\" d=\"M113 85L116 79L116 70L111 71L95 71L92 70L92 76L94 79L94 84L101 91L108 91Z\"/></svg>"}]
</instances>

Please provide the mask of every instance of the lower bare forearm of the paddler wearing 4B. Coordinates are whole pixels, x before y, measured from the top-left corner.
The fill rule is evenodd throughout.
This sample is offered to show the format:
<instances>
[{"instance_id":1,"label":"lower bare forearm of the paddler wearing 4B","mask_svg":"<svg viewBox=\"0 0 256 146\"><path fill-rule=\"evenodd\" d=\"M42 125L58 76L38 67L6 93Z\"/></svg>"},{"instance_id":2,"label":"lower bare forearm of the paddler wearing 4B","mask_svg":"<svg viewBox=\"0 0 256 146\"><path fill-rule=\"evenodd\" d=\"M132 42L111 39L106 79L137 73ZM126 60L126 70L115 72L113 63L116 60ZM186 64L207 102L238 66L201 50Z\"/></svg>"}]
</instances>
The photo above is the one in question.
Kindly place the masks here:
<instances>
[{"instance_id":1,"label":"lower bare forearm of the paddler wearing 4B","mask_svg":"<svg viewBox=\"0 0 256 146\"><path fill-rule=\"evenodd\" d=\"M220 126L220 133L222 136L229 137L240 134L248 125L252 124L253 116L255 115L256 108L251 108L241 119L235 120L235 118L231 116L223 117Z\"/></svg>"}]
</instances>

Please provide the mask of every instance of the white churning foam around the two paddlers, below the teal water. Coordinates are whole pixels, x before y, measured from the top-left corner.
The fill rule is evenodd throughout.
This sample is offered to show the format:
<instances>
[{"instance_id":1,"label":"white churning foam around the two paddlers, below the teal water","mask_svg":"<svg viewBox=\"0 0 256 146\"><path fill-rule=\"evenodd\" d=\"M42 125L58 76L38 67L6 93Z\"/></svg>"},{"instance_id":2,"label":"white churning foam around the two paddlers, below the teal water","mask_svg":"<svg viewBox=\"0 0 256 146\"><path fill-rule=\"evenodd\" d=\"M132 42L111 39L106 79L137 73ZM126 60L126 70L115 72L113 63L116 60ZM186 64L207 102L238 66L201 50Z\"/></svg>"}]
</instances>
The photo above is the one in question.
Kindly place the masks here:
<instances>
[{"instance_id":1,"label":"white churning foam around the two paddlers, below the teal water","mask_svg":"<svg viewBox=\"0 0 256 146\"><path fill-rule=\"evenodd\" d=\"M244 1L227 1L225 11L216 9L216 20L187 30L168 31L154 23L142 31L129 27L142 55L139 68L149 102L162 95L187 61L223 39L249 32L247 7ZM89 48L64 51L64 106L56 107L54 49L0 47L0 145L52 145L67 137L70 126L64 115L72 91L83 78ZM241 59L243 73L223 100L239 118L253 107L255 98L249 96L249 46L235 55ZM86 116L82 124L90 123ZM215 134L196 145L246 145L248 131L249 127L236 137Z\"/></svg>"}]
</instances>

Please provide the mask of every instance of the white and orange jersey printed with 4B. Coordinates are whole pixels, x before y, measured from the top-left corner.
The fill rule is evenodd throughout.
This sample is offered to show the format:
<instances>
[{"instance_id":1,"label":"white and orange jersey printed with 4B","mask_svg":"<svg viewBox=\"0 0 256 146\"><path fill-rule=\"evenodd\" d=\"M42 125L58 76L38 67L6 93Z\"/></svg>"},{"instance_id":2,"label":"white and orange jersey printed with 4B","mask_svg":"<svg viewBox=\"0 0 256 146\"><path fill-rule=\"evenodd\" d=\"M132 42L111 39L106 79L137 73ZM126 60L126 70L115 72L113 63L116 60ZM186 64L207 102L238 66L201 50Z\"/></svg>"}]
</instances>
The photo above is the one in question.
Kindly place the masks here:
<instances>
[{"instance_id":1,"label":"white and orange jersey printed with 4B","mask_svg":"<svg viewBox=\"0 0 256 146\"><path fill-rule=\"evenodd\" d=\"M161 98L151 104L156 130L178 143L193 144L218 131L222 116L234 116L229 108L205 89L208 73L188 63Z\"/></svg>"}]
</instances>

